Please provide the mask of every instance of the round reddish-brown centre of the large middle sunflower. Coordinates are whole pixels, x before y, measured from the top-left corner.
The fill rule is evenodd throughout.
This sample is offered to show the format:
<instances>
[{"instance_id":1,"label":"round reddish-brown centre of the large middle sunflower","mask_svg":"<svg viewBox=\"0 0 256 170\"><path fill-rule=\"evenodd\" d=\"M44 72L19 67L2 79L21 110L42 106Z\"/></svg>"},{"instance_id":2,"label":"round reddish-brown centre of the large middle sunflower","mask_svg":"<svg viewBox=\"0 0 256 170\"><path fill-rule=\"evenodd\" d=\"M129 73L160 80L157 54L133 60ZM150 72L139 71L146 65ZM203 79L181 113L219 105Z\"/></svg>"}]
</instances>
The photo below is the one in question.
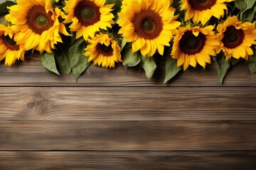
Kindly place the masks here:
<instances>
[{"instance_id":1,"label":"round reddish-brown centre of the large middle sunflower","mask_svg":"<svg viewBox=\"0 0 256 170\"><path fill-rule=\"evenodd\" d=\"M135 32L144 39L153 40L163 30L161 16L155 11L144 9L136 13L132 21Z\"/></svg>"}]
</instances>

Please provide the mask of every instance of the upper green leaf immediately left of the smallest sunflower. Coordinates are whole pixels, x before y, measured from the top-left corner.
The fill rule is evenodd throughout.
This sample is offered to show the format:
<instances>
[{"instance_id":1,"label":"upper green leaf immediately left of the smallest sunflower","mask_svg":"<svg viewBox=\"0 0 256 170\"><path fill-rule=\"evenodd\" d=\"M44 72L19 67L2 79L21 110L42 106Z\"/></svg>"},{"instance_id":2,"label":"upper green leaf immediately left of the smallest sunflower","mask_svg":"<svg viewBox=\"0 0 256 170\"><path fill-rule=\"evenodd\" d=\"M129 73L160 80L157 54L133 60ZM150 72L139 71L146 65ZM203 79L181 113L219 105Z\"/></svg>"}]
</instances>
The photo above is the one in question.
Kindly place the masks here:
<instances>
[{"instance_id":1,"label":"upper green leaf immediately left of the smallest sunflower","mask_svg":"<svg viewBox=\"0 0 256 170\"><path fill-rule=\"evenodd\" d=\"M84 57L84 49L85 40L83 38L79 38L73 43L73 45L71 45L70 49L68 50L71 67L75 67L75 65L81 61L81 57Z\"/></svg>"}]
</instances>

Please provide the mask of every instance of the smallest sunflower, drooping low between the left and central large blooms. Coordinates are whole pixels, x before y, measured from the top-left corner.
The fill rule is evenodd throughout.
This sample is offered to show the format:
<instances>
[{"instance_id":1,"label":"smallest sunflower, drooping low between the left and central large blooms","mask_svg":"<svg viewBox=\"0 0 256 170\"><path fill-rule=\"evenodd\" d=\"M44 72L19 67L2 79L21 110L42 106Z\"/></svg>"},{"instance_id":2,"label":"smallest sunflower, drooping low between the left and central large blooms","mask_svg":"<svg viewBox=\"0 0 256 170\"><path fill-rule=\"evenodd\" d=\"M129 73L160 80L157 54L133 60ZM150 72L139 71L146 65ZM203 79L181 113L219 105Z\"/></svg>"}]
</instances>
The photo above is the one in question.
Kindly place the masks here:
<instances>
[{"instance_id":1,"label":"smallest sunflower, drooping low between the left and central large blooms","mask_svg":"<svg viewBox=\"0 0 256 170\"><path fill-rule=\"evenodd\" d=\"M120 55L120 47L110 35L97 34L92 39L89 39L90 45L85 48L85 56L89 57L89 62L102 67L114 67L115 62L122 62Z\"/></svg>"}]
</instances>

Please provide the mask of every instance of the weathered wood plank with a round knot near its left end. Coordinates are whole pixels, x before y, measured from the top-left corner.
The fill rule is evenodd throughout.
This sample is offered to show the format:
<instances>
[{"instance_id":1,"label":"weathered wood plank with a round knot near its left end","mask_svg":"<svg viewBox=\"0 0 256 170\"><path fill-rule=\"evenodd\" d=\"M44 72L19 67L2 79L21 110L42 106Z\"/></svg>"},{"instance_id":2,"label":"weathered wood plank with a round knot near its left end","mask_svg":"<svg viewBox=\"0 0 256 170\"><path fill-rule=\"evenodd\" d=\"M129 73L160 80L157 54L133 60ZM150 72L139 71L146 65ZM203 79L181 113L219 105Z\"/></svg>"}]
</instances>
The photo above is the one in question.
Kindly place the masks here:
<instances>
[{"instance_id":1,"label":"weathered wood plank with a round knot near its left end","mask_svg":"<svg viewBox=\"0 0 256 170\"><path fill-rule=\"evenodd\" d=\"M256 120L254 87L2 87L0 120Z\"/></svg>"}]
</instances>

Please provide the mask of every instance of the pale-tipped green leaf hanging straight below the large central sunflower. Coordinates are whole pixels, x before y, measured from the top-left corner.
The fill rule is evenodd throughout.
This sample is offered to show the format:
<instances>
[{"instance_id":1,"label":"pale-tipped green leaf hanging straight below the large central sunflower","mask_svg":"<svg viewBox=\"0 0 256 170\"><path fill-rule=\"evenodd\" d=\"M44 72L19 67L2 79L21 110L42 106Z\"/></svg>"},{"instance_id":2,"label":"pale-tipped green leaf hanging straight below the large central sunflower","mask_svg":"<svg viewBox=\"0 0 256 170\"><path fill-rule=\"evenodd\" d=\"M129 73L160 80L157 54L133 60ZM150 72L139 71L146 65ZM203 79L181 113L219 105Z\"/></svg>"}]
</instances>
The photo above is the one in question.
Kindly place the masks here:
<instances>
[{"instance_id":1,"label":"pale-tipped green leaf hanging straight below the large central sunflower","mask_svg":"<svg viewBox=\"0 0 256 170\"><path fill-rule=\"evenodd\" d=\"M143 57L141 55L141 66L146 72L146 77L150 80L156 70L156 62L154 61L154 57L148 57L147 55Z\"/></svg>"}]
</instances>

